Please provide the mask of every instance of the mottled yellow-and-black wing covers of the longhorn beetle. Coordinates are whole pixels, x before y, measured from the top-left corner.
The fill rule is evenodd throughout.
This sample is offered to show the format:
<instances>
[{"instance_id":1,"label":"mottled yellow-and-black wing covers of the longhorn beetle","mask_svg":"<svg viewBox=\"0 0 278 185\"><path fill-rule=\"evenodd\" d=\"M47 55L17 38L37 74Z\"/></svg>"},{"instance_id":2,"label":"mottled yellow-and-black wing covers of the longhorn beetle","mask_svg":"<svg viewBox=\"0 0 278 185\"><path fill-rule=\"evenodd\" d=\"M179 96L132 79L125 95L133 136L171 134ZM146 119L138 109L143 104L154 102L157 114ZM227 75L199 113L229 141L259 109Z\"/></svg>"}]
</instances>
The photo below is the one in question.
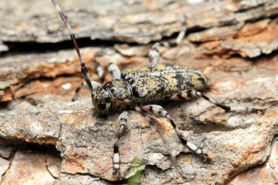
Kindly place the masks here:
<instances>
[{"instance_id":1,"label":"mottled yellow-and-black wing covers of the longhorn beetle","mask_svg":"<svg viewBox=\"0 0 278 185\"><path fill-rule=\"evenodd\" d=\"M200 71L172 64L157 64L124 71L136 102L163 100L189 89L202 89L206 78Z\"/></svg>"}]
</instances>

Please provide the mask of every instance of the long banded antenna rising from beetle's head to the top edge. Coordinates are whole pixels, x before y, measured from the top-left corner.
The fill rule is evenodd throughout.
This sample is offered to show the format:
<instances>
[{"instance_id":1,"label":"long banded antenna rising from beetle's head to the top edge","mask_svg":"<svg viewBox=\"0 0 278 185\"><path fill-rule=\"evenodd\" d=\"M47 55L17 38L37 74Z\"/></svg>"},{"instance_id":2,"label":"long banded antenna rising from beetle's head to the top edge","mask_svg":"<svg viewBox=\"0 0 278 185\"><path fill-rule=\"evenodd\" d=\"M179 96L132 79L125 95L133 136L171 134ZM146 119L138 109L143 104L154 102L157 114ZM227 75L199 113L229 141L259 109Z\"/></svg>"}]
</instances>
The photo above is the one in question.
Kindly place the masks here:
<instances>
[{"instance_id":1,"label":"long banded antenna rising from beetle's head to the top edge","mask_svg":"<svg viewBox=\"0 0 278 185\"><path fill-rule=\"evenodd\" d=\"M67 30L69 31L70 33L70 37L72 39L72 42L74 43L74 48L76 50L76 53L77 55L79 56L79 61L80 61L80 65L81 65L81 72L82 72L82 75L83 75L83 78L85 80L85 82L87 83L89 89L91 91L93 91L92 89L92 83L90 81L90 76L89 76L89 73L88 73L88 69L85 67L85 63L83 62L83 59L82 59L82 56L81 56L81 53L79 51L79 46L76 42L76 38L74 36L74 33L72 32L72 28L70 27L70 24L69 22L67 21L67 18L65 18L65 14L63 13L63 11L60 9L60 7L58 6L58 4L56 3L55 0L51 0L52 3L54 4L54 6L56 6L56 9L58 10L59 14L60 14L60 17L62 18L62 20L64 21L65 23L65 26L67 26Z\"/></svg>"}]
</instances>

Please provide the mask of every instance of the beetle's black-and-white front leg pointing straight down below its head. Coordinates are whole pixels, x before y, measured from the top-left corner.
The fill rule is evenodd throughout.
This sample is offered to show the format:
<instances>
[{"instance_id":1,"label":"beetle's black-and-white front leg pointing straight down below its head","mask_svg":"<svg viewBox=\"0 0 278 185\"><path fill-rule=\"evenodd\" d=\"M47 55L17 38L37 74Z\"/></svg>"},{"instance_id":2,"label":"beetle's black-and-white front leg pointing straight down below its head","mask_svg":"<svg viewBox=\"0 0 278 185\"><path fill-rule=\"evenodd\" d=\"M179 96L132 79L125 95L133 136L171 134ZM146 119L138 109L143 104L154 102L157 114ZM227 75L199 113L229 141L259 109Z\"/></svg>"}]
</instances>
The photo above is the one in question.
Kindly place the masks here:
<instances>
[{"instance_id":1,"label":"beetle's black-and-white front leg pointing straight down below its head","mask_svg":"<svg viewBox=\"0 0 278 185\"><path fill-rule=\"evenodd\" d=\"M119 116L119 124L120 124L120 130L117 134L117 140L114 144L114 155L113 155L113 175L116 175L117 179L120 178L120 155L119 155L119 140L122 136L122 132L124 132L124 127L126 125L126 121L129 114L124 111Z\"/></svg>"}]
</instances>

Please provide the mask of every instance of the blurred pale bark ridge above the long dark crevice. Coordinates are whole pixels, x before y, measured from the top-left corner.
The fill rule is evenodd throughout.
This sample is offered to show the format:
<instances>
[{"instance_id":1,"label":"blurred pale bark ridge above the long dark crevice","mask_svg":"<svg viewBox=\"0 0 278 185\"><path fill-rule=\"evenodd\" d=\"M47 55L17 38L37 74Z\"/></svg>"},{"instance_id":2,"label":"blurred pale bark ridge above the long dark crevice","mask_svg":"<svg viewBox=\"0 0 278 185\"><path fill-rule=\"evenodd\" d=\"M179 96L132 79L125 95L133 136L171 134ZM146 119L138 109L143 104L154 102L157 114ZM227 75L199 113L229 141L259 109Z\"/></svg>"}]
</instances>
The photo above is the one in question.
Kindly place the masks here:
<instances>
[{"instance_id":1,"label":"blurred pale bark ridge above the long dark crevice","mask_svg":"<svg viewBox=\"0 0 278 185\"><path fill-rule=\"evenodd\" d=\"M278 1L58 1L76 36L147 44L188 28L236 25L278 14ZM1 39L6 42L59 42L69 39L51 1L0 3ZM38 8L43 7L43 9ZM120 11L119 11L120 10ZM15 15L15 16L10 16ZM22 16L24 15L24 16ZM136 36L135 36L136 35Z\"/></svg>"}]
</instances>

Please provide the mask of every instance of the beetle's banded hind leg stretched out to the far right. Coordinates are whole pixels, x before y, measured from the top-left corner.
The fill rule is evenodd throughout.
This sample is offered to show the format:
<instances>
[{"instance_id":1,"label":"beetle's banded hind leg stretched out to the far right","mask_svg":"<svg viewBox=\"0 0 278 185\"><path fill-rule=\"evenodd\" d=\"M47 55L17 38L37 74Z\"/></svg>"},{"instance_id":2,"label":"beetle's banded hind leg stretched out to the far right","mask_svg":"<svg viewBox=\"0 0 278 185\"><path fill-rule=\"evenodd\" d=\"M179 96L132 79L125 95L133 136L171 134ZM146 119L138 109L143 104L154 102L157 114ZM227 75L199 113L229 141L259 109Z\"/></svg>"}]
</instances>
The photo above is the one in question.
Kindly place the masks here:
<instances>
[{"instance_id":1,"label":"beetle's banded hind leg stretched out to the far right","mask_svg":"<svg viewBox=\"0 0 278 185\"><path fill-rule=\"evenodd\" d=\"M173 96L170 97L170 100L189 100L191 98L197 98L197 97L202 97L205 100L208 100L210 103L213 103L214 105L220 107L221 109L224 109L225 111L229 112L229 111L246 111L246 112L262 112L265 113L266 109L255 109L252 107L229 107L227 105L222 105L220 103L218 103L217 101L208 98L208 96L204 96L204 94L202 94L199 91L195 91L195 90L185 90L185 91L181 91L178 94L174 94Z\"/></svg>"}]
</instances>

